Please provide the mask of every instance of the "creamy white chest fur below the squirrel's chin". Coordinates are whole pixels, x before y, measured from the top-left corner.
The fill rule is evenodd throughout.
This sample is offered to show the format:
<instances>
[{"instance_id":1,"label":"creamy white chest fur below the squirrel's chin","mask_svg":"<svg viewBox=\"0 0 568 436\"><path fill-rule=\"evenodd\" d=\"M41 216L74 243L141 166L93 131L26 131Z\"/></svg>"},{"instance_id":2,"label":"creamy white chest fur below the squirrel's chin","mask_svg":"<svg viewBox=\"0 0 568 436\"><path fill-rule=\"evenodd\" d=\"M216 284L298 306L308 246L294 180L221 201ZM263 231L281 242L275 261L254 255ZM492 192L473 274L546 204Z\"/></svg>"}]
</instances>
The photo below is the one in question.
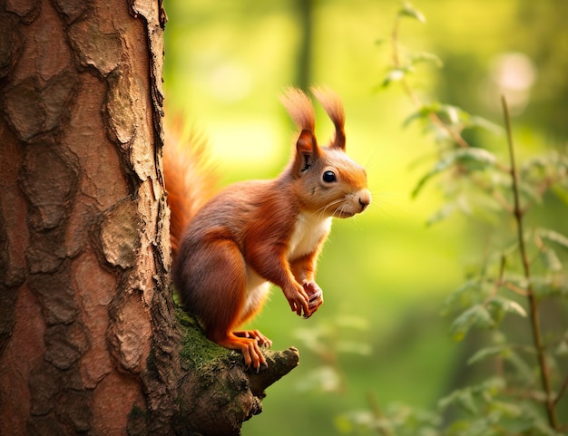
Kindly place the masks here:
<instances>
[{"instance_id":1,"label":"creamy white chest fur below the squirrel's chin","mask_svg":"<svg viewBox=\"0 0 568 436\"><path fill-rule=\"evenodd\" d=\"M300 213L292 237L290 237L288 259L302 257L314 251L320 239L328 234L330 228L330 217L322 218L317 214Z\"/></svg>"}]
</instances>

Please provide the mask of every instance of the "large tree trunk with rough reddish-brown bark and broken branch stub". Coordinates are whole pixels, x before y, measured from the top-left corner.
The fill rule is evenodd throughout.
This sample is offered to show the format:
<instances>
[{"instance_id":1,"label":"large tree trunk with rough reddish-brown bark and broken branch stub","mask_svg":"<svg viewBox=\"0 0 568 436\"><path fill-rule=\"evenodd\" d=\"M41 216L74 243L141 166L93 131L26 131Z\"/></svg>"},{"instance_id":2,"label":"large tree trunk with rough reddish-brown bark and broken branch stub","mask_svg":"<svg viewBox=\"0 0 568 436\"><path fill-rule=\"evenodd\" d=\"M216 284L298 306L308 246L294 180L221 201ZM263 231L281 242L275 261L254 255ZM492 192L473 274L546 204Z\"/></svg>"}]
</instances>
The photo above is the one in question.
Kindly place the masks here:
<instances>
[{"instance_id":1,"label":"large tree trunk with rough reddish-brown bark and broken branch stub","mask_svg":"<svg viewBox=\"0 0 568 436\"><path fill-rule=\"evenodd\" d=\"M298 362L270 354L257 376L183 351L198 339L169 286L164 22L155 0L0 3L0 434L236 434ZM196 402L211 366L227 402ZM228 404L217 431L203 409Z\"/></svg>"}]
</instances>

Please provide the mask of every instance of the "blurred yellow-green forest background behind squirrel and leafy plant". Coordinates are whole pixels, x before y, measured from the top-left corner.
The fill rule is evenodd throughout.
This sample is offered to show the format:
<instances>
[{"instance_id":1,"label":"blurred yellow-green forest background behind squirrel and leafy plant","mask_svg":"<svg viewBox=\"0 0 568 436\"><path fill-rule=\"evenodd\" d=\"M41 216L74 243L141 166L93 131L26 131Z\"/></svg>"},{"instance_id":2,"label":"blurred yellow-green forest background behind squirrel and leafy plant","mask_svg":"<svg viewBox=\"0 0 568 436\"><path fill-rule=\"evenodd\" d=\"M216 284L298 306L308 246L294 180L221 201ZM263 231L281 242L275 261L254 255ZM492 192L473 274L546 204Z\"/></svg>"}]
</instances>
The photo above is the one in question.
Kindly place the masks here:
<instances>
[{"instance_id":1,"label":"blurred yellow-green forest background behind squirrel and leafy plant","mask_svg":"<svg viewBox=\"0 0 568 436\"><path fill-rule=\"evenodd\" d=\"M278 101L290 84L325 84L347 111L348 154L367 168L374 203L336 220L318 266L325 305L308 321L274 289L251 325L274 349L296 345L300 366L270 387L265 411L243 434L339 434L336 417L403 402L431 408L463 380L468 341L447 334L444 298L487 248L491 223L460 216L426 227L442 203L432 184L410 193L435 148L404 92L380 87L401 3L391 0L168 0L164 88L211 142L220 185L276 176L294 128ZM552 150L568 135L568 2L416 0L426 24L402 24L408 50L436 53L411 80L428 102L455 104L502 124L510 93L521 154ZM331 136L317 106L320 142ZM504 136L491 139L505 150ZM426 159L426 160L425 160ZM425 163L426 161L426 163ZM565 227L566 211L553 224ZM544 212L541 215L545 215Z\"/></svg>"}]
</instances>

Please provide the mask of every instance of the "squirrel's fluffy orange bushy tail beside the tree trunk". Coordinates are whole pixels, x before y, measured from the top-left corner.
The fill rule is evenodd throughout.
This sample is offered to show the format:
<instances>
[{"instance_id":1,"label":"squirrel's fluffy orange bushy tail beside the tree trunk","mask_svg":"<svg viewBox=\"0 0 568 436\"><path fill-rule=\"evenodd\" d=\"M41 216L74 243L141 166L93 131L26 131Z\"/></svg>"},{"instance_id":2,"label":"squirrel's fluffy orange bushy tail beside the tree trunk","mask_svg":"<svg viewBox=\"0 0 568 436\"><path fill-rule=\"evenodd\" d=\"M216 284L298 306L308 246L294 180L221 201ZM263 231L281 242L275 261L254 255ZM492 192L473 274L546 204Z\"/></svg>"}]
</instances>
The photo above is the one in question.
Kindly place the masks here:
<instances>
[{"instance_id":1,"label":"squirrel's fluffy orange bushy tail beside the tree trunk","mask_svg":"<svg viewBox=\"0 0 568 436\"><path fill-rule=\"evenodd\" d=\"M171 210L171 255L176 256L181 237L191 218L211 199L217 175L208 158L207 140L191 133L183 140L182 124L174 121L166 129L163 151L163 177Z\"/></svg>"}]
</instances>

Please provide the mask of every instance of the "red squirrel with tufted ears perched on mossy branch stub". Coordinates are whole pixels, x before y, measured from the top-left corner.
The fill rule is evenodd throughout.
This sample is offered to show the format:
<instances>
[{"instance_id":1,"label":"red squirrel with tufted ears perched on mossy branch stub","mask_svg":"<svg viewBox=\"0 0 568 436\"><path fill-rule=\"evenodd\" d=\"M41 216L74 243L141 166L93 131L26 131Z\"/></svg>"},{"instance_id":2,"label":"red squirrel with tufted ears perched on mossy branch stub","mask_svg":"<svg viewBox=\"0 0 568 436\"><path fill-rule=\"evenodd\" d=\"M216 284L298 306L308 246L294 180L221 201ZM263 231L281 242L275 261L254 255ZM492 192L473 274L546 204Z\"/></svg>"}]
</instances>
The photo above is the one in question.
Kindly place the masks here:
<instances>
[{"instance_id":1,"label":"red squirrel with tufted ears perched on mossy branch stub","mask_svg":"<svg viewBox=\"0 0 568 436\"><path fill-rule=\"evenodd\" d=\"M282 289L297 315L316 312L323 303L316 263L331 218L352 217L371 202L366 171L345 153L338 95L312 92L333 121L335 138L318 146L311 101L289 88L280 100L299 134L289 165L276 179L234 183L201 206L207 183L190 174L200 170L201 154L197 163L180 163L171 145L164 151L172 277L181 302L211 341L240 350L245 365L257 371L267 365L260 346L272 343L258 330L239 331L240 325L260 311L269 283Z\"/></svg>"}]
</instances>

